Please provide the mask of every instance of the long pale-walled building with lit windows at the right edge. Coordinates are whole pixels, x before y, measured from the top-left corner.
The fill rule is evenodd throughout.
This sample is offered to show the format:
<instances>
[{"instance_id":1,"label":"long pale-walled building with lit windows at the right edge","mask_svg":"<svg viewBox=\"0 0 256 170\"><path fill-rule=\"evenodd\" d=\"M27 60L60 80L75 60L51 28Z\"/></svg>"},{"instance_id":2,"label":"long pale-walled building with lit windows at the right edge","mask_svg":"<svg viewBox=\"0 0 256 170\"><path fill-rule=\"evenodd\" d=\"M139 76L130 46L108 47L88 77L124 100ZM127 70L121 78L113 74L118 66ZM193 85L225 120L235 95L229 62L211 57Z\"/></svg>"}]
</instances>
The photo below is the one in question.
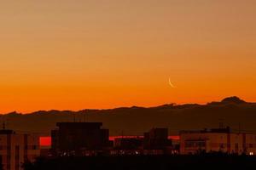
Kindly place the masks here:
<instances>
[{"instance_id":1,"label":"long pale-walled building with lit windows at the right edge","mask_svg":"<svg viewBox=\"0 0 256 170\"><path fill-rule=\"evenodd\" d=\"M180 153L221 151L229 154L256 154L256 135L232 133L230 127L180 132Z\"/></svg>"}]
</instances>

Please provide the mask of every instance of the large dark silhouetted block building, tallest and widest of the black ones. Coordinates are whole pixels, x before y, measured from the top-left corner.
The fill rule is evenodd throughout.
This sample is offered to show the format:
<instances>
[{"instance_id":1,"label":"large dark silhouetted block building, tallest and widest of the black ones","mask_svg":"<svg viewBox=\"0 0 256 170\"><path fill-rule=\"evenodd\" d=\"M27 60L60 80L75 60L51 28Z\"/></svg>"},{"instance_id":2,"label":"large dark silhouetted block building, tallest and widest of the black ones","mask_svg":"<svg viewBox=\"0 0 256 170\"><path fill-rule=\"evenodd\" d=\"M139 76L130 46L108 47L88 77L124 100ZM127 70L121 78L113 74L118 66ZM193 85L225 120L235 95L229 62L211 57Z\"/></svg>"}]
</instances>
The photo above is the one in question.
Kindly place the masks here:
<instances>
[{"instance_id":1,"label":"large dark silhouetted block building, tallest and widest of the black ones","mask_svg":"<svg viewBox=\"0 0 256 170\"><path fill-rule=\"evenodd\" d=\"M102 122L57 122L51 131L54 155L93 155L111 146Z\"/></svg>"}]
</instances>

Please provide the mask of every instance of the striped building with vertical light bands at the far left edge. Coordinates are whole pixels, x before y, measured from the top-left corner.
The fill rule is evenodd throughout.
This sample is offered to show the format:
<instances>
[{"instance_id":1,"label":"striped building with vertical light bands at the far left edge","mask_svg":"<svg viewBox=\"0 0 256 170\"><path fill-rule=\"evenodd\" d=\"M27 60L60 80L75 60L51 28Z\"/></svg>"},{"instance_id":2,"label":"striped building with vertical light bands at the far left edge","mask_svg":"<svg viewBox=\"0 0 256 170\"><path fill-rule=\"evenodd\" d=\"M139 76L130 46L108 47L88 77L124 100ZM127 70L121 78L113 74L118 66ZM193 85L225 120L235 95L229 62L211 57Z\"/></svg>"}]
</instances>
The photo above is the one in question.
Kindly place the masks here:
<instances>
[{"instance_id":1,"label":"striped building with vertical light bands at the far left edge","mask_svg":"<svg viewBox=\"0 0 256 170\"><path fill-rule=\"evenodd\" d=\"M40 155L39 137L0 130L0 156L4 170L20 170L25 161L34 161Z\"/></svg>"}]
</instances>

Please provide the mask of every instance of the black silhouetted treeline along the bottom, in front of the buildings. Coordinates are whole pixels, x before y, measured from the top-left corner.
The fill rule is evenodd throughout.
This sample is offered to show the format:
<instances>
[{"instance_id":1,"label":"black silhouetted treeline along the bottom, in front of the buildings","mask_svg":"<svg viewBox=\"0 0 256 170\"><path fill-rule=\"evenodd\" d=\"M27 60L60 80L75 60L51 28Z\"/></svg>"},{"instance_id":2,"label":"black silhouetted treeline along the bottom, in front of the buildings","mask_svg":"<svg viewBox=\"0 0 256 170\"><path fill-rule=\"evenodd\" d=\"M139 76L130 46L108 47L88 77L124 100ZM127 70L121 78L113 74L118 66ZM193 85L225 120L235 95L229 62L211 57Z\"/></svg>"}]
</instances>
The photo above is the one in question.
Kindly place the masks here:
<instances>
[{"instance_id":1,"label":"black silhouetted treeline along the bottom, in front of the buildings","mask_svg":"<svg viewBox=\"0 0 256 170\"><path fill-rule=\"evenodd\" d=\"M38 158L24 170L255 169L256 156L90 156Z\"/></svg>"}]
</instances>

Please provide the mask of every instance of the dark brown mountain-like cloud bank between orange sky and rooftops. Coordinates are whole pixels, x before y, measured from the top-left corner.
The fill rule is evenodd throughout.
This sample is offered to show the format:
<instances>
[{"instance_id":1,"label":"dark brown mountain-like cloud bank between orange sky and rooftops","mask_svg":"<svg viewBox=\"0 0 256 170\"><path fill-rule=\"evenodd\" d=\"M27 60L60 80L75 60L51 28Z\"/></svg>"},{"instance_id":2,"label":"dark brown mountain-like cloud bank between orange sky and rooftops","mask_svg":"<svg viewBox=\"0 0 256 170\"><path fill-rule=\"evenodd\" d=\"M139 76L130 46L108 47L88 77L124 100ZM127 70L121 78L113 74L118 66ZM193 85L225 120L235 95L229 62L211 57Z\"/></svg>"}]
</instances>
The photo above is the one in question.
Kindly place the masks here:
<instances>
[{"instance_id":1,"label":"dark brown mountain-like cloud bank between orange sky and rooftops","mask_svg":"<svg viewBox=\"0 0 256 170\"><path fill-rule=\"evenodd\" d=\"M219 122L234 131L256 133L256 103L237 97L207 105L160 105L156 107L122 107L109 110L12 112L1 115L1 122L17 132L49 135L55 122L103 122L110 135L142 135L152 127L168 127L175 135L179 130L218 127Z\"/></svg>"}]
</instances>

